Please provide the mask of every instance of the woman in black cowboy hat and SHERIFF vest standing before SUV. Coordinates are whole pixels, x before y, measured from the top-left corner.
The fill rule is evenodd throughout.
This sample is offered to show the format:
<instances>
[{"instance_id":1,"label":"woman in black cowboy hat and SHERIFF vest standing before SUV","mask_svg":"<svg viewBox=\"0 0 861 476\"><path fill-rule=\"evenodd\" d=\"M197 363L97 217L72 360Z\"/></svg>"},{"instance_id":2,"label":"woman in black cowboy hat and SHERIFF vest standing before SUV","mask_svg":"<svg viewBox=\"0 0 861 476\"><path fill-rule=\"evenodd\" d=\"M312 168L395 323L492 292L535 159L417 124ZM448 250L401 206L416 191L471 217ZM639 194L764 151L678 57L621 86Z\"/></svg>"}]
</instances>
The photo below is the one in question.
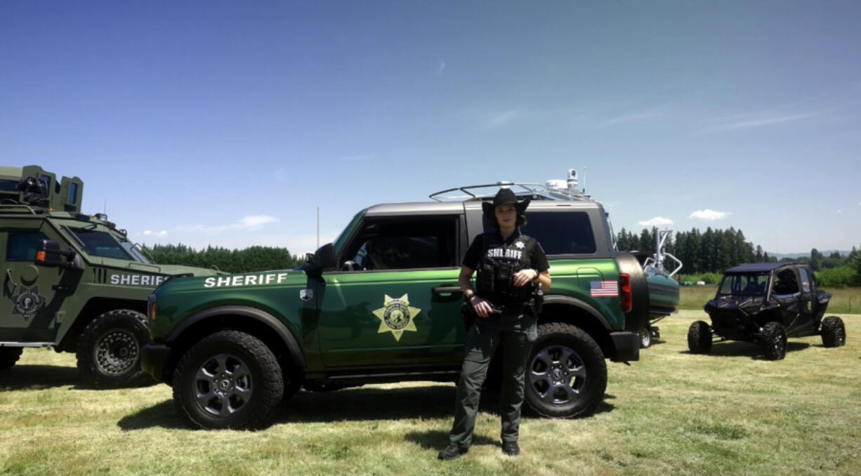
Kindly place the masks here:
<instances>
[{"instance_id":1,"label":"woman in black cowboy hat and SHERIFF vest standing before SUV","mask_svg":"<svg viewBox=\"0 0 861 476\"><path fill-rule=\"evenodd\" d=\"M455 423L449 446L440 451L440 460L454 460L469 451L475 428L481 384L487 366L501 343L503 378L499 399L502 414L502 452L520 454L517 446L520 408L523 405L523 377L526 359L537 337L536 289L550 288L547 257L534 238L522 235L518 226L526 224L524 212L529 199L517 201L511 189L500 189L492 203L482 203L495 232L479 235L463 258L458 282L474 313L469 328L466 355L457 384ZM476 288L472 276L478 271ZM540 298L539 298L540 299Z\"/></svg>"}]
</instances>

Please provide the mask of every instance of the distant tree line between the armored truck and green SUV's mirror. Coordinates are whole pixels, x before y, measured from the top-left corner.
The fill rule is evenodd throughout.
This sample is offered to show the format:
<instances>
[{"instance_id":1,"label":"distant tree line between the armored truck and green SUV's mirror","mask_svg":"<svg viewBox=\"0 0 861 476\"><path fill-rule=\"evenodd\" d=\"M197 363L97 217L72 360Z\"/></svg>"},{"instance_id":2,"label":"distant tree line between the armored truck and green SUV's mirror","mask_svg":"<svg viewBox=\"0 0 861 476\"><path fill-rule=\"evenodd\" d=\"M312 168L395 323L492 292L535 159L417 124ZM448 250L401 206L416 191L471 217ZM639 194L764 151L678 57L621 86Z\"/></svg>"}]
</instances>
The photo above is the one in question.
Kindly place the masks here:
<instances>
[{"instance_id":1,"label":"distant tree line between the armored truck and green SUV's mirror","mask_svg":"<svg viewBox=\"0 0 861 476\"><path fill-rule=\"evenodd\" d=\"M291 255L287 248L250 246L244 250L228 250L208 246L195 250L185 244L143 245L144 250L159 264L182 264L197 268L216 268L228 273L251 273L269 269L294 269L305 263L304 257Z\"/></svg>"}]
</instances>

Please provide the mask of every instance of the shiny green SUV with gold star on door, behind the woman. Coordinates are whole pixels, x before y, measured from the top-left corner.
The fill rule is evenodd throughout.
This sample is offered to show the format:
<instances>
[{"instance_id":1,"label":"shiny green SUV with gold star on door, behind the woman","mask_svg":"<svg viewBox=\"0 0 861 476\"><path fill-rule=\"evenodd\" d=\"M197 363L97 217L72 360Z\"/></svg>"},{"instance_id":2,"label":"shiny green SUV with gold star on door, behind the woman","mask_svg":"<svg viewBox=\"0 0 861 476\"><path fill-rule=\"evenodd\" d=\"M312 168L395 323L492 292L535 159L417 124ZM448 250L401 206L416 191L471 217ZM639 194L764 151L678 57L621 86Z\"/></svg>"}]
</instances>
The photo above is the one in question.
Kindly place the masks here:
<instances>
[{"instance_id":1,"label":"shiny green SUV with gold star on door, behind the woman","mask_svg":"<svg viewBox=\"0 0 861 476\"><path fill-rule=\"evenodd\" d=\"M673 311L678 284L617 252L604 207L576 182L376 205L301 269L164 282L150 296L145 371L173 386L190 423L234 429L265 425L300 386L456 381L467 339L459 265L488 230L481 203L499 187L531 198L521 229L542 244L553 276L526 401L544 416L590 415L604 398L605 359L639 359L641 328L650 313Z\"/></svg>"}]
</instances>

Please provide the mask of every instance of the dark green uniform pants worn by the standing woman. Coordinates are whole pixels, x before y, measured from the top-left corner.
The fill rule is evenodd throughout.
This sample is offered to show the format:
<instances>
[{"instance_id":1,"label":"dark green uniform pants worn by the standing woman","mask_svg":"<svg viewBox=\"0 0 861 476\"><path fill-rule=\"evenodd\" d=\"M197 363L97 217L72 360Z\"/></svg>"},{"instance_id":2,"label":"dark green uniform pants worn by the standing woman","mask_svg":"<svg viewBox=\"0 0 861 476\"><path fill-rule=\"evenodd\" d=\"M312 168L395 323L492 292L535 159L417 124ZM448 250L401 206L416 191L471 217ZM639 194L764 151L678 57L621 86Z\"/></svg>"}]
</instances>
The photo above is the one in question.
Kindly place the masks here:
<instances>
[{"instance_id":1,"label":"dark green uniform pants worn by the standing woman","mask_svg":"<svg viewBox=\"0 0 861 476\"><path fill-rule=\"evenodd\" d=\"M520 407L523 405L523 376L526 373L526 359L535 340L536 318L531 316L476 319L469 329L461 380L457 384L455 423L449 436L451 444L469 448L473 441L481 385L487 375L487 366L500 343L503 346L502 389L499 396L502 441L517 442Z\"/></svg>"}]
</instances>

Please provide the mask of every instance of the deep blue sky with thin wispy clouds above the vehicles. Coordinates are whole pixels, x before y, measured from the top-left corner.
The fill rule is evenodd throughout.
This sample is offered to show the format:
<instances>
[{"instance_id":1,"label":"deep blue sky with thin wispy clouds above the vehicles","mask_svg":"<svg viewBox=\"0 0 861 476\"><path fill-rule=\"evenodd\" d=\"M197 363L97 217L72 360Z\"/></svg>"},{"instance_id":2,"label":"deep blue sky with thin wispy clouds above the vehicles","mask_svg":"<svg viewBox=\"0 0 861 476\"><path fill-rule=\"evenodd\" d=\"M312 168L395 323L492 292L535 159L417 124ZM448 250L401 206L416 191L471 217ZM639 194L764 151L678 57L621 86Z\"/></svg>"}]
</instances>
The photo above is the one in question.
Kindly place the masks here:
<instances>
[{"instance_id":1,"label":"deep blue sky with thin wispy clouds above the vehicles","mask_svg":"<svg viewBox=\"0 0 861 476\"><path fill-rule=\"evenodd\" d=\"M136 241L293 253L585 173L616 230L861 245L858 2L3 2L2 164ZM672 223L668 223L672 221Z\"/></svg>"}]
</instances>

